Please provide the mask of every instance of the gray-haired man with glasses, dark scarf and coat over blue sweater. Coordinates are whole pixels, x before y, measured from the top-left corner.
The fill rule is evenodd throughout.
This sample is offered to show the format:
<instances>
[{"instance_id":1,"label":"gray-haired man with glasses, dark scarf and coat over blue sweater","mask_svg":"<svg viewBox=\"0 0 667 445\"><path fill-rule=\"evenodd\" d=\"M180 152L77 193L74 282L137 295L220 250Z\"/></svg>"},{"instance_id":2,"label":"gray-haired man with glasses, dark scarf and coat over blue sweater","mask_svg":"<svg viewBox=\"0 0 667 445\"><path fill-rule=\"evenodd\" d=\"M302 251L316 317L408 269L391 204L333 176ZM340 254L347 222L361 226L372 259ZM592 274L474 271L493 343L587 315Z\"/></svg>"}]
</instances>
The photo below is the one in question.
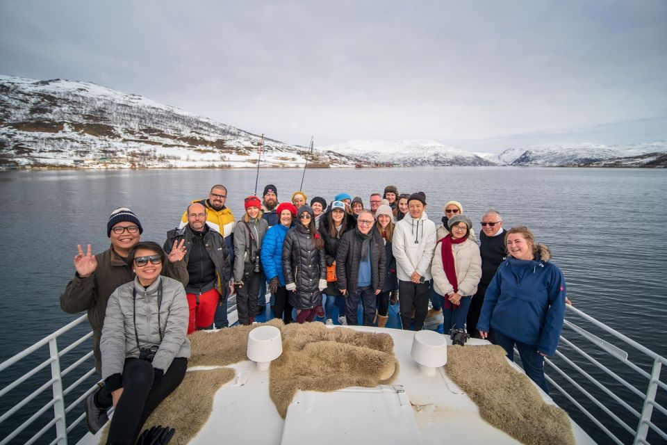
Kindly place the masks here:
<instances>
[{"instance_id":1,"label":"gray-haired man with glasses, dark scarf and coat over blue sweater","mask_svg":"<svg viewBox=\"0 0 667 445\"><path fill-rule=\"evenodd\" d=\"M346 300L347 325L356 325L359 300L363 303L363 324L372 326L377 311L376 296L382 291L386 275L384 242L370 210L362 210L356 229L338 242L336 275L338 289Z\"/></svg>"}]
</instances>

